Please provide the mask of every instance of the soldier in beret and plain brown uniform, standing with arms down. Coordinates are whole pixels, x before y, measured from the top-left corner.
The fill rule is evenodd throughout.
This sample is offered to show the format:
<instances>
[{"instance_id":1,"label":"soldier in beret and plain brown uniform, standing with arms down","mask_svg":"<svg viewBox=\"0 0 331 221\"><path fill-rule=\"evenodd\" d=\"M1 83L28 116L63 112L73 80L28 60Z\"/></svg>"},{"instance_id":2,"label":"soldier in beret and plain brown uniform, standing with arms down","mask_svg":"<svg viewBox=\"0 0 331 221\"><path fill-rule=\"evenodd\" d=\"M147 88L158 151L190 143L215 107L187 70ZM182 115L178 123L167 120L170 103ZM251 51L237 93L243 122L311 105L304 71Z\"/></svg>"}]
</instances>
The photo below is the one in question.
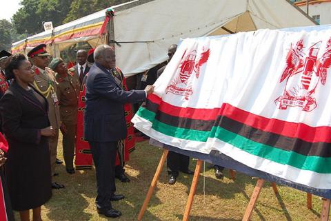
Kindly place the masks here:
<instances>
[{"instance_id":1,"label":"soldier in beret and plain brown uniform, standing with arms down","mask_svg":"<svg viewBox=\"0 0 331 221\"><path fill-rule=\"evenodd\" d=\"M77 129L77 112L80 83L77 74L68 71L61 58L55 58L50 63L50 68L57 73L56 79L60 115L62 120L61 132L63 134L63 158L66 171L74 173L74 143Z\"/></svg>"}]
</instances>

